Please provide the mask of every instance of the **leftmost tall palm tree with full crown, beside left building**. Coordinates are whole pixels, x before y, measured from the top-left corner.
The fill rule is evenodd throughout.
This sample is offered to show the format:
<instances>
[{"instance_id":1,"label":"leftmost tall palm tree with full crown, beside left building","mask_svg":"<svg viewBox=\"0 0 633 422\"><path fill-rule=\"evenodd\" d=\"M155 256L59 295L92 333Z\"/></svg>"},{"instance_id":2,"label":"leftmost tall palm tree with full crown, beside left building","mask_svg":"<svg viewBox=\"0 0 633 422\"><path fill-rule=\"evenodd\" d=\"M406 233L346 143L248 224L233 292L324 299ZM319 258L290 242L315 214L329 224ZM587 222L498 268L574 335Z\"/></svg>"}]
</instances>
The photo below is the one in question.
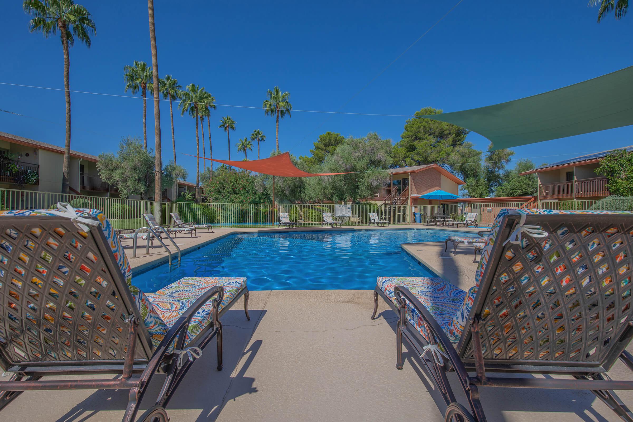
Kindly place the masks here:
<instances>
[{"instance_id":1,"label":"leftmost tall palm tree with full crown, beside left building","mask_svg":"<svg viewBox=\"0 0 633 422\"><path fill-rule=\"evenodd\" d=\"M64 52L64 93L66 97L66 142L64 144L64 164L61 178L61 193L68 193L68 169L70 168L70 56L68 47L75 45L75 39L90 47L90 35L97 30L90 12L72 0L25 0L24 11L33 16L28 23L30 32L41 32L44 38L57 34L60 30L61 47Z\"/></svg>"}]
</instances>

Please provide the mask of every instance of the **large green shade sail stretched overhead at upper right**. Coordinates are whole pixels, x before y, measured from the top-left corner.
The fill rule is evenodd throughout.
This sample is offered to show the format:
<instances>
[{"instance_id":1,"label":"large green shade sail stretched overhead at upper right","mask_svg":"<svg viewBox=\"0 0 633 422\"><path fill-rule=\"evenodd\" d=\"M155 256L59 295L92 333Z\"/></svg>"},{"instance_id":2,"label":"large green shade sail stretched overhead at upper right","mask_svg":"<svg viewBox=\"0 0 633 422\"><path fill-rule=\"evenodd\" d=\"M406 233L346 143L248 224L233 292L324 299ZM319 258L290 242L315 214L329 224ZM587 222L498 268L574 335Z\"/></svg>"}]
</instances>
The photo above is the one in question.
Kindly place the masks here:
<instances>
[{"instance_id":1,"label":"large green shade sail stretched overhead at upper right","mask_svg":"<svg viewBox=\"0 0 633 422\"><path fill-rule=\"evenodd\" d=\"M633 125L633 66L532 97L422 117L477 132L491 151Z\"/></svg>"}]
</instances>

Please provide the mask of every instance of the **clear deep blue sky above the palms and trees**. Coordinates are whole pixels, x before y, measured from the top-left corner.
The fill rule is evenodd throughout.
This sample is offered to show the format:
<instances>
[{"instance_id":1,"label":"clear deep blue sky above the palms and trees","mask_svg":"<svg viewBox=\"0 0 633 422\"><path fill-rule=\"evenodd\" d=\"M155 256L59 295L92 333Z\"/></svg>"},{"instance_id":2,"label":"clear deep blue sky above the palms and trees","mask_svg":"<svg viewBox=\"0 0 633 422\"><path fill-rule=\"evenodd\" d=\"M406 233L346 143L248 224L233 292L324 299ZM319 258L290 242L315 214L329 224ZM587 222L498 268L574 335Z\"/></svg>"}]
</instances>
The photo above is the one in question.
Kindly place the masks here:
<instances>
[{"instance_id":1,"label":"clear deep blue sky above the palms and trees","mask_svg":"<svg viewBox=\"0 0 633 422\"><path fill-rule=\"evenodd\" d=\"M335 111L372 80L457 0L439 2L173 2L154 0L160 75L183 86L205 87L219 104L261 106L267 89L291 93L295 109ZM70 51L70 87L125 94L123 66L151 63L144 2L79 0L97 25L92 47ZM125 4L125 5L124 5ZM597 9L579 1L464 0L385 73L341 111L412 115L432 106L458 111L509 101L598 77L632 65L633 16L596 23ZM28 32L21 1L1 7L0 82L63 88L59 39ZM61 91L0 85L0 130L63 146ZM177 152L195 154L194 120L175 116ZM261 109L218 106L212 112L215 158L227 158L220 118L237 122L235 142L260 128L262 155L274 149L275 121ZM125 135L142 135L140 99L72 94L72 148L116 151ZM360 137L378 132L397 142L404 117L293 112L280 121L280 149L299 156L328 130ZM205 123L206 127L206 123ZM169 109L161 102L163 162L172 157ZM206 130L205 130L206 132ZM153 102L147 104L147 139L154 143ZM515 158L536 164L570 154L633 144L632 127L515 148ZM468 140L479 149L488 141ZM208 151L207 151L208 153ZM256 154L256 150L253 151ZM565 155L562 155L565 154ZM251 155L254 157L254 155ZM195 159L177 156L195 180ZM201 164L202 167L202 164Z\"/></svg>"}]
</instances>

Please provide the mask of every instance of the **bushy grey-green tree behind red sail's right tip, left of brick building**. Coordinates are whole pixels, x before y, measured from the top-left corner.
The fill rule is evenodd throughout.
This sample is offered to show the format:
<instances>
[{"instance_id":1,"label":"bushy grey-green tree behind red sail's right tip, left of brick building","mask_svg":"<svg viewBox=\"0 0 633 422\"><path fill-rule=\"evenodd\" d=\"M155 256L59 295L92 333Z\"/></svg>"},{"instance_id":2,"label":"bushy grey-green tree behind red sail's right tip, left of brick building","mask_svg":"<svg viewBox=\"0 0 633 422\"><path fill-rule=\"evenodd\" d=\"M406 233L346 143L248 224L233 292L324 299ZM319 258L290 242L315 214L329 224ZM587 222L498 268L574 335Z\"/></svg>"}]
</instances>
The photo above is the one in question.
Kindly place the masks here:
<instances>
[{"instance_id":1,"label":"bushy grey-green tree behind red sail's right tip, left of brick building","mask_svg":"<svg viewBox=\"0 0 633 422\"><path fill-rule=\"evenodd\" d=\"M310 177L306 180L306 197L313 201L358 202L389 180L387 169L391 166L392 145L390 139L381 139L377 133L367 137L349 137L329 154L323 164L313 169L315 173L340 173L348 175Z\"/></svg>"}]
</instances>

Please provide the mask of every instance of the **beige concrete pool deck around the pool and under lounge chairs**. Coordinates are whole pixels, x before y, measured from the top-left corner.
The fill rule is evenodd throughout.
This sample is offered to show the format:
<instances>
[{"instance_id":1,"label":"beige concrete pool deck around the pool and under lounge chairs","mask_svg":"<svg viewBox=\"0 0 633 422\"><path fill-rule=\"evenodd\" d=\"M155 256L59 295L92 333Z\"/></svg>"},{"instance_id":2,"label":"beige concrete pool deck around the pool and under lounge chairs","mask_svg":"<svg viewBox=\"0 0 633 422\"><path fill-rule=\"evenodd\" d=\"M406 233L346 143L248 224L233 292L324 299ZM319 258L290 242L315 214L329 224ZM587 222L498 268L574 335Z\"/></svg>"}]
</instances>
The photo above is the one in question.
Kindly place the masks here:
<instances>
[{"instance_id":1,"label":"beige concrete pool deck around the pool and under lounge chairs","mask_svg":"<svg viewBox=\"0 0 633 422\"><path fill-rule=\"evenodd\" d=\"M220 230L213 236L201 233L189 243L185 237L176 240L193 248L232 232L255 231ZM472 263L471 246L458 247L456 256L444 252L444 242L405 244L403 249L461 289L472 286L477 264ZM130 252L127 249L131 256ZM134 268L151 265L151 257L165 259L165 252L132 259ZM172 421L444 420L446 406L417 357L405 352L404 369L395 368L397 316L379 299L379 316L372 321L371 290L253 291L251 321L244 318L241 300L222 316L224 369L215 369L212 340L168 405ZM619 361L610 375L633 379ZM0 378L0 389L6 379ZM458 400L466 404L453 374L449 381ZM153 406L162 382L162 375L154 376L138 416ZM491 422L621 420L591 392L520 388L480 388L480 392ZM118 422L127 395L128 390L25 392L0 413L0 420ZM627 404L633 402L631 391L618 395Z\"/></svg>"}]
</instances>

